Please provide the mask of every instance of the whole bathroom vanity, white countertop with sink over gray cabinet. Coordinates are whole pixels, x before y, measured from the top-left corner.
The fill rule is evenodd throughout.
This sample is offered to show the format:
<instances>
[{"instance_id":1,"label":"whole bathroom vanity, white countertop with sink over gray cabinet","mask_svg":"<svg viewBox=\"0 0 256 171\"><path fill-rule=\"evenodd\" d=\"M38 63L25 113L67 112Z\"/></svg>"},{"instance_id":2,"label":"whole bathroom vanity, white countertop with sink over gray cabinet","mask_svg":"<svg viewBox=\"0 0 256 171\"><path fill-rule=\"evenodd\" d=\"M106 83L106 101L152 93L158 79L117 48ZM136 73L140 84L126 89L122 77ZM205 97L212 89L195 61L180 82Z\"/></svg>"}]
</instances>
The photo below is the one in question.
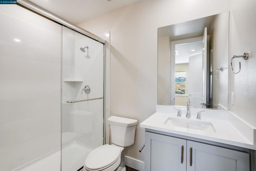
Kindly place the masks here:
<instances>
[{"instance_id":1,"label":"whole bathroom vanity, white countertop with sink over gray cabinet","mask_svg":"<svg viewBox=\"0 0 256 171\"><path fill-rule=\"evenodd\" d=\"M255 128L229 111L157 105L145 128L145 171L255 171Z\"/></svg>"}]
</instances>

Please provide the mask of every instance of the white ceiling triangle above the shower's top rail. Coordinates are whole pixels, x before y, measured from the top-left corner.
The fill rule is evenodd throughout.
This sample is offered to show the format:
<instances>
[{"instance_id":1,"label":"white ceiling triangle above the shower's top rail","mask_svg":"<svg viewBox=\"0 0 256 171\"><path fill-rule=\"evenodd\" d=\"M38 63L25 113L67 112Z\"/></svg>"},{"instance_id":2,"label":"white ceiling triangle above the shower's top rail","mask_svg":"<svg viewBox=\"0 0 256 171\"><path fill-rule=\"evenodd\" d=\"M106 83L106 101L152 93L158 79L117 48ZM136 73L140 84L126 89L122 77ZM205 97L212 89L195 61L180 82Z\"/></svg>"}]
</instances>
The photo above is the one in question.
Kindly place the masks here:
<instances>
[{"instance_id":1,"label":"white ceiling triangle above the shower's top rail","mask_svg":"<svg viewBox=\"0 0 256 171\"><path fill-rule=\"evenodd\" d=\"M140 0L30 0L42 8L78 24Z\"/></svg>"}]
</instances>

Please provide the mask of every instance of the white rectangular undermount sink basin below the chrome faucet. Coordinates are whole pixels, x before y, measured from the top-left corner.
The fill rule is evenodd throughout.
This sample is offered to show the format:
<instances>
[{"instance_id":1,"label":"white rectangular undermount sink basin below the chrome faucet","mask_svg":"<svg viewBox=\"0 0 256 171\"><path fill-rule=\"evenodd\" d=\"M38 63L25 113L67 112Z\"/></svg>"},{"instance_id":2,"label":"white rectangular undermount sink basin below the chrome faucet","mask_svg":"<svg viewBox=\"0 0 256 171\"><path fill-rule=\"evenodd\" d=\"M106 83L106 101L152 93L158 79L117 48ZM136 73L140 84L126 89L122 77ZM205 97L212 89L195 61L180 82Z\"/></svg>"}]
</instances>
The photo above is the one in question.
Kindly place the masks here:
<instances>
[{"instance_id":1,"label":"white rectangular undermount sink basin below the chrome faucet","mask_svg":"<svg viewBox=\"0 0 256 171\"><path fill-rule=\"evenodd\" d=\"M174 130L186 131L190 133L216 133L211 122L192 120L180 117L168 117L164 125L170 126Z\"/></svg>"}]
</instances>

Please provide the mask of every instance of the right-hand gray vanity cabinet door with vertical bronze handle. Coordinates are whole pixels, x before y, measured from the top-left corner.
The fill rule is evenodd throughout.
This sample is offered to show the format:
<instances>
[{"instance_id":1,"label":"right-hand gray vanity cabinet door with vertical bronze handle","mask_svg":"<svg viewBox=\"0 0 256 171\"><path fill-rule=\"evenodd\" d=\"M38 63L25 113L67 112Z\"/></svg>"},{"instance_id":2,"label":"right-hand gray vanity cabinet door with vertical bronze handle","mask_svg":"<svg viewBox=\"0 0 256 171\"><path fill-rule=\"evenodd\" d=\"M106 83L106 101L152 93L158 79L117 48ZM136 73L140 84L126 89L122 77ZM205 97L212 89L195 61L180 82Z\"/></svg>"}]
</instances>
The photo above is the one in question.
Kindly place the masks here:
<instances>
[{"instance_id":1,"label":"right-hand gray vanity cabinet door with vertical bronze handle","mask_svg":"<svg viewBox=\"0 0 256 171\"><path fill-rule=\"evenodd\" d=\"M187 141L187 171L250 171L250 156L241 151Z\"/></svg>"}]
</instances>

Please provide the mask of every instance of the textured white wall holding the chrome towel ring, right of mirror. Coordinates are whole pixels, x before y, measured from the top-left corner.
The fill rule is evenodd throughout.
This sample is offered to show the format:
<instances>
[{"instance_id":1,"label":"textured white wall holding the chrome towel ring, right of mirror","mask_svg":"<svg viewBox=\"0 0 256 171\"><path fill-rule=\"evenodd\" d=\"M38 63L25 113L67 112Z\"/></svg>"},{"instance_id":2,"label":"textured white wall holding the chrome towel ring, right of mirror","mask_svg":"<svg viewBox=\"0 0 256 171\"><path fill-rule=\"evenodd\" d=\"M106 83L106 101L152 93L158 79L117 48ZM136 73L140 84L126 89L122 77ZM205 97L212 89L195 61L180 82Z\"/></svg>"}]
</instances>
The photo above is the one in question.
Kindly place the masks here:
<instances>
[{"instance_id":1,"label":"textured white wall holding the chrome towel ring, right of mirror","mask_svg":"<svg viewBox=\"0 0 256 171\"><path fill-rule=\"evenodd\" d=\"M242 55L250 52L249 59L244 61L235 59L234 70L238 71L238 62L241 62L241 71L231 73L231 92L234 92L234 105L231 111L256 127L256 1L232 1L231 12L231 53ZM235 67L236 66L236 67Z\"/></svg>"}]
</instances>

